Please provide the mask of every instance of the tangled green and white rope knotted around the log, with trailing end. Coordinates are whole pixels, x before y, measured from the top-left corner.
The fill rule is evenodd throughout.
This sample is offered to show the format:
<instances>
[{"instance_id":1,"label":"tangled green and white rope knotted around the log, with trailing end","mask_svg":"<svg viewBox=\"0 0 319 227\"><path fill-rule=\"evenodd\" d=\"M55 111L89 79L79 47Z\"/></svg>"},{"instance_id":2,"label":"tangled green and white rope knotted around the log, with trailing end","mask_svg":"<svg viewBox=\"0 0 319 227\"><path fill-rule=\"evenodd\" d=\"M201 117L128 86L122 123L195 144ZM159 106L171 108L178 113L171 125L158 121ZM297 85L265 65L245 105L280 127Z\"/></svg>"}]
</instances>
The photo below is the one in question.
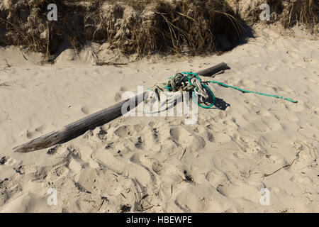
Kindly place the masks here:
<instances>
[{"instance_id":1,"label":"tangled green and white rope knotted around the log, with trailing end","mask_svg":"<svg viewBox=\"0 0 319 227\"><path fill-rule=\"evenodd\" d=\"M215 95L213 94L211 89L206 85L208 83L219 84L220 86L227 87L227 88L230 87L243 93L254 93L254 94L259 94L263 96L272 96L277 99L284 99L286 101L291 101L292 103L298 102L294 99L286 98L284 96L278 96L274 94L264 94L260 92L252 92L252 91L241 89L228 84L223 84L222 82L217 82L213 80L202 82L198 74L194 72L179 72L175 74L173 77L169 77L169 81L167 83L164 83L163 86L164 86L164 89L167 89L168 92L177 92L179 90L186 91L186 92L194 92L193 99L196 102L196 104L198 106L201 106L204 109L209 109L215 105ZM211 102L211 104L204 106L203 104L205 104L208 101L209 94L211 94L213 101ZM196 99L196 96L198 96L199 101Z\"/></svg>"}]
</instances>

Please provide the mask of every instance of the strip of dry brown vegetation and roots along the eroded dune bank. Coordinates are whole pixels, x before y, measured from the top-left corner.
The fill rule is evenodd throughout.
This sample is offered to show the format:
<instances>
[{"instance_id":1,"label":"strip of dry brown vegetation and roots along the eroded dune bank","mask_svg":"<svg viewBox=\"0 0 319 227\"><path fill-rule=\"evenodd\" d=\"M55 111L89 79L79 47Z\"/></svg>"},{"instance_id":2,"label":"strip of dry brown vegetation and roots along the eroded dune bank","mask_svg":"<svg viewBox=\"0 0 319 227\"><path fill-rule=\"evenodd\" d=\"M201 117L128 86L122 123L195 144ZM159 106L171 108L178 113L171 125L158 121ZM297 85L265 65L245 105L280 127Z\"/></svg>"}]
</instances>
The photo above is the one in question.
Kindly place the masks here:
<instances>
[{"instance_id":1,"label":"strip of dry brown vegetation and roots along the eroded dune bank","mask_svg":"<svg viewBox=\"0 0 319 227\"><path fill-rule=\"evenodd\" d=\"M47 21L57 4L58 21ZM260 21L264 1L235 0L6 0L0 3L0 44L23 45L50 58L65 48L106 43L125 55L202 55L230 50ZM272 19L318 32L318 0L275 1ZM244 22L245 21L245 22ZM245 34L243 34L245 33Z\"/></svg>"}]
</instances>

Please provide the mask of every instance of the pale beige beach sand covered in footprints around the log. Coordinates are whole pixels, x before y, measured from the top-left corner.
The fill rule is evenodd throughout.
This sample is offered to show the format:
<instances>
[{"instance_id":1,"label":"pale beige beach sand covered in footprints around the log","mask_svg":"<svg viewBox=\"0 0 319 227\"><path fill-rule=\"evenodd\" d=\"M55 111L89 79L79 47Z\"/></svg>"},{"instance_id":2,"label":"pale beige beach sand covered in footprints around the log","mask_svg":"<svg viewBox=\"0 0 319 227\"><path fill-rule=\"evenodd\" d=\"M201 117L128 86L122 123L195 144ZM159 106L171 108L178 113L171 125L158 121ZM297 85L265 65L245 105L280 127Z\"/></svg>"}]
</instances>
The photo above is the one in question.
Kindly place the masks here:
<instances>
[{"instance_id":1,"label":"pale beige beach sand covered in footprints around the log","mask_svg":"<svg viewBox=\"0 0 319 227\"><path fill-rule=\"evenodd\" d=\"M99 53L74 57L71 50L40 66L38 55L1 48L0 211L318 212L318 50L314 38L269 28L221 56L118 67L94 66ZM12 151L138 85L219 62L231 70L216 80L298 104L211 85L230 106L199 109L195 125L122 117L51 150ZM57 206L47 205L49 188L57 189ZM263 188L269 206L259 203Z\"/></svg>"}]
</instances>

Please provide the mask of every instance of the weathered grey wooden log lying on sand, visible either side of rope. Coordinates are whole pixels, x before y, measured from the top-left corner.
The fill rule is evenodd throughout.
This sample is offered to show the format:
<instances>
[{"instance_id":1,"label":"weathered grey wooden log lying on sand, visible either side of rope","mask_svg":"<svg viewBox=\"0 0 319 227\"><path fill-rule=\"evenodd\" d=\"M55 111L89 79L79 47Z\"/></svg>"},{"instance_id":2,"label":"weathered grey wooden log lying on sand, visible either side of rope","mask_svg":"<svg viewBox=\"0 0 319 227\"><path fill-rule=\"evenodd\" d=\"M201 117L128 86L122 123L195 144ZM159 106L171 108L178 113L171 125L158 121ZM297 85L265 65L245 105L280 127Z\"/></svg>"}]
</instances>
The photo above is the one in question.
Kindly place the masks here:
<instances>
[{"instance_id":1,"label":"weathered grey wooden log lying on sand, visible either side of rope","mask_svg":"<svg viewBox=\"0 0 319 227\"><path fill-rule=\"evenodd\" d=\"M220 63L206 70L197 72L197 74L203 77L211 77L217 72L228 69L230 68L225 63ZM62 128L62 130L60 131L52 131L51 133L40 136L39 138L30 140L28 143L19 145L18 147L13 148L13 151L18 153L28 153L33 150L50 148L52 145L65 143L69 140L77 138L79 135L82 135L86 131L94 129L97 126L102 126L103 124L106 124L109 121L122 116L122 106L124 104L126 104L128 101L133 101L133 103L135 101L135 106L138 106L138 104L140 104L140 102L142 102L146 96L147 92L139 94L138 96L135 96L131 99L121 101L120 103L98 111L95 114L91 114L89 116L86 116L85 118L75 121L74 123L70 123L69 125Z\"/></svg>"}]
</instances>

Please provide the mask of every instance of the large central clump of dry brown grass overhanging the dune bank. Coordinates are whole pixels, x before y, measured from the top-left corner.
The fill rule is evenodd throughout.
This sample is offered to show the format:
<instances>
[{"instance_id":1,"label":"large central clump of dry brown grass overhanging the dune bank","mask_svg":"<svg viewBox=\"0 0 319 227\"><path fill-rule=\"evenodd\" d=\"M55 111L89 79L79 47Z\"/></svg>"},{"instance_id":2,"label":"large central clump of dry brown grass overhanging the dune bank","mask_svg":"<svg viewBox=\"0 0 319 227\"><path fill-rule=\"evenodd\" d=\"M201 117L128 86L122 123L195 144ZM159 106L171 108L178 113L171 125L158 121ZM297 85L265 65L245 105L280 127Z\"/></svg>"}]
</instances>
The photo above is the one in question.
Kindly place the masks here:
<instances>
[{"instance_id":1,"label":"large central clump of dry brown grass overhanging the dune bank","mask_svg":"<svg viewBox=\"0 0 319 227\"><path fill-rule=\"evenodd\" d=\"M143 23L143 18L128 22L130 35L116 37L117 31L110 29L114 24L108 24L108 41L125 54L187 52L201 55L219 50L220 38L228 40L229 48L242 38L242 22L235 18L225 1L182 0L174 4L157 1L153 10L149 23Z\"/></svg>"}]
</instances>

